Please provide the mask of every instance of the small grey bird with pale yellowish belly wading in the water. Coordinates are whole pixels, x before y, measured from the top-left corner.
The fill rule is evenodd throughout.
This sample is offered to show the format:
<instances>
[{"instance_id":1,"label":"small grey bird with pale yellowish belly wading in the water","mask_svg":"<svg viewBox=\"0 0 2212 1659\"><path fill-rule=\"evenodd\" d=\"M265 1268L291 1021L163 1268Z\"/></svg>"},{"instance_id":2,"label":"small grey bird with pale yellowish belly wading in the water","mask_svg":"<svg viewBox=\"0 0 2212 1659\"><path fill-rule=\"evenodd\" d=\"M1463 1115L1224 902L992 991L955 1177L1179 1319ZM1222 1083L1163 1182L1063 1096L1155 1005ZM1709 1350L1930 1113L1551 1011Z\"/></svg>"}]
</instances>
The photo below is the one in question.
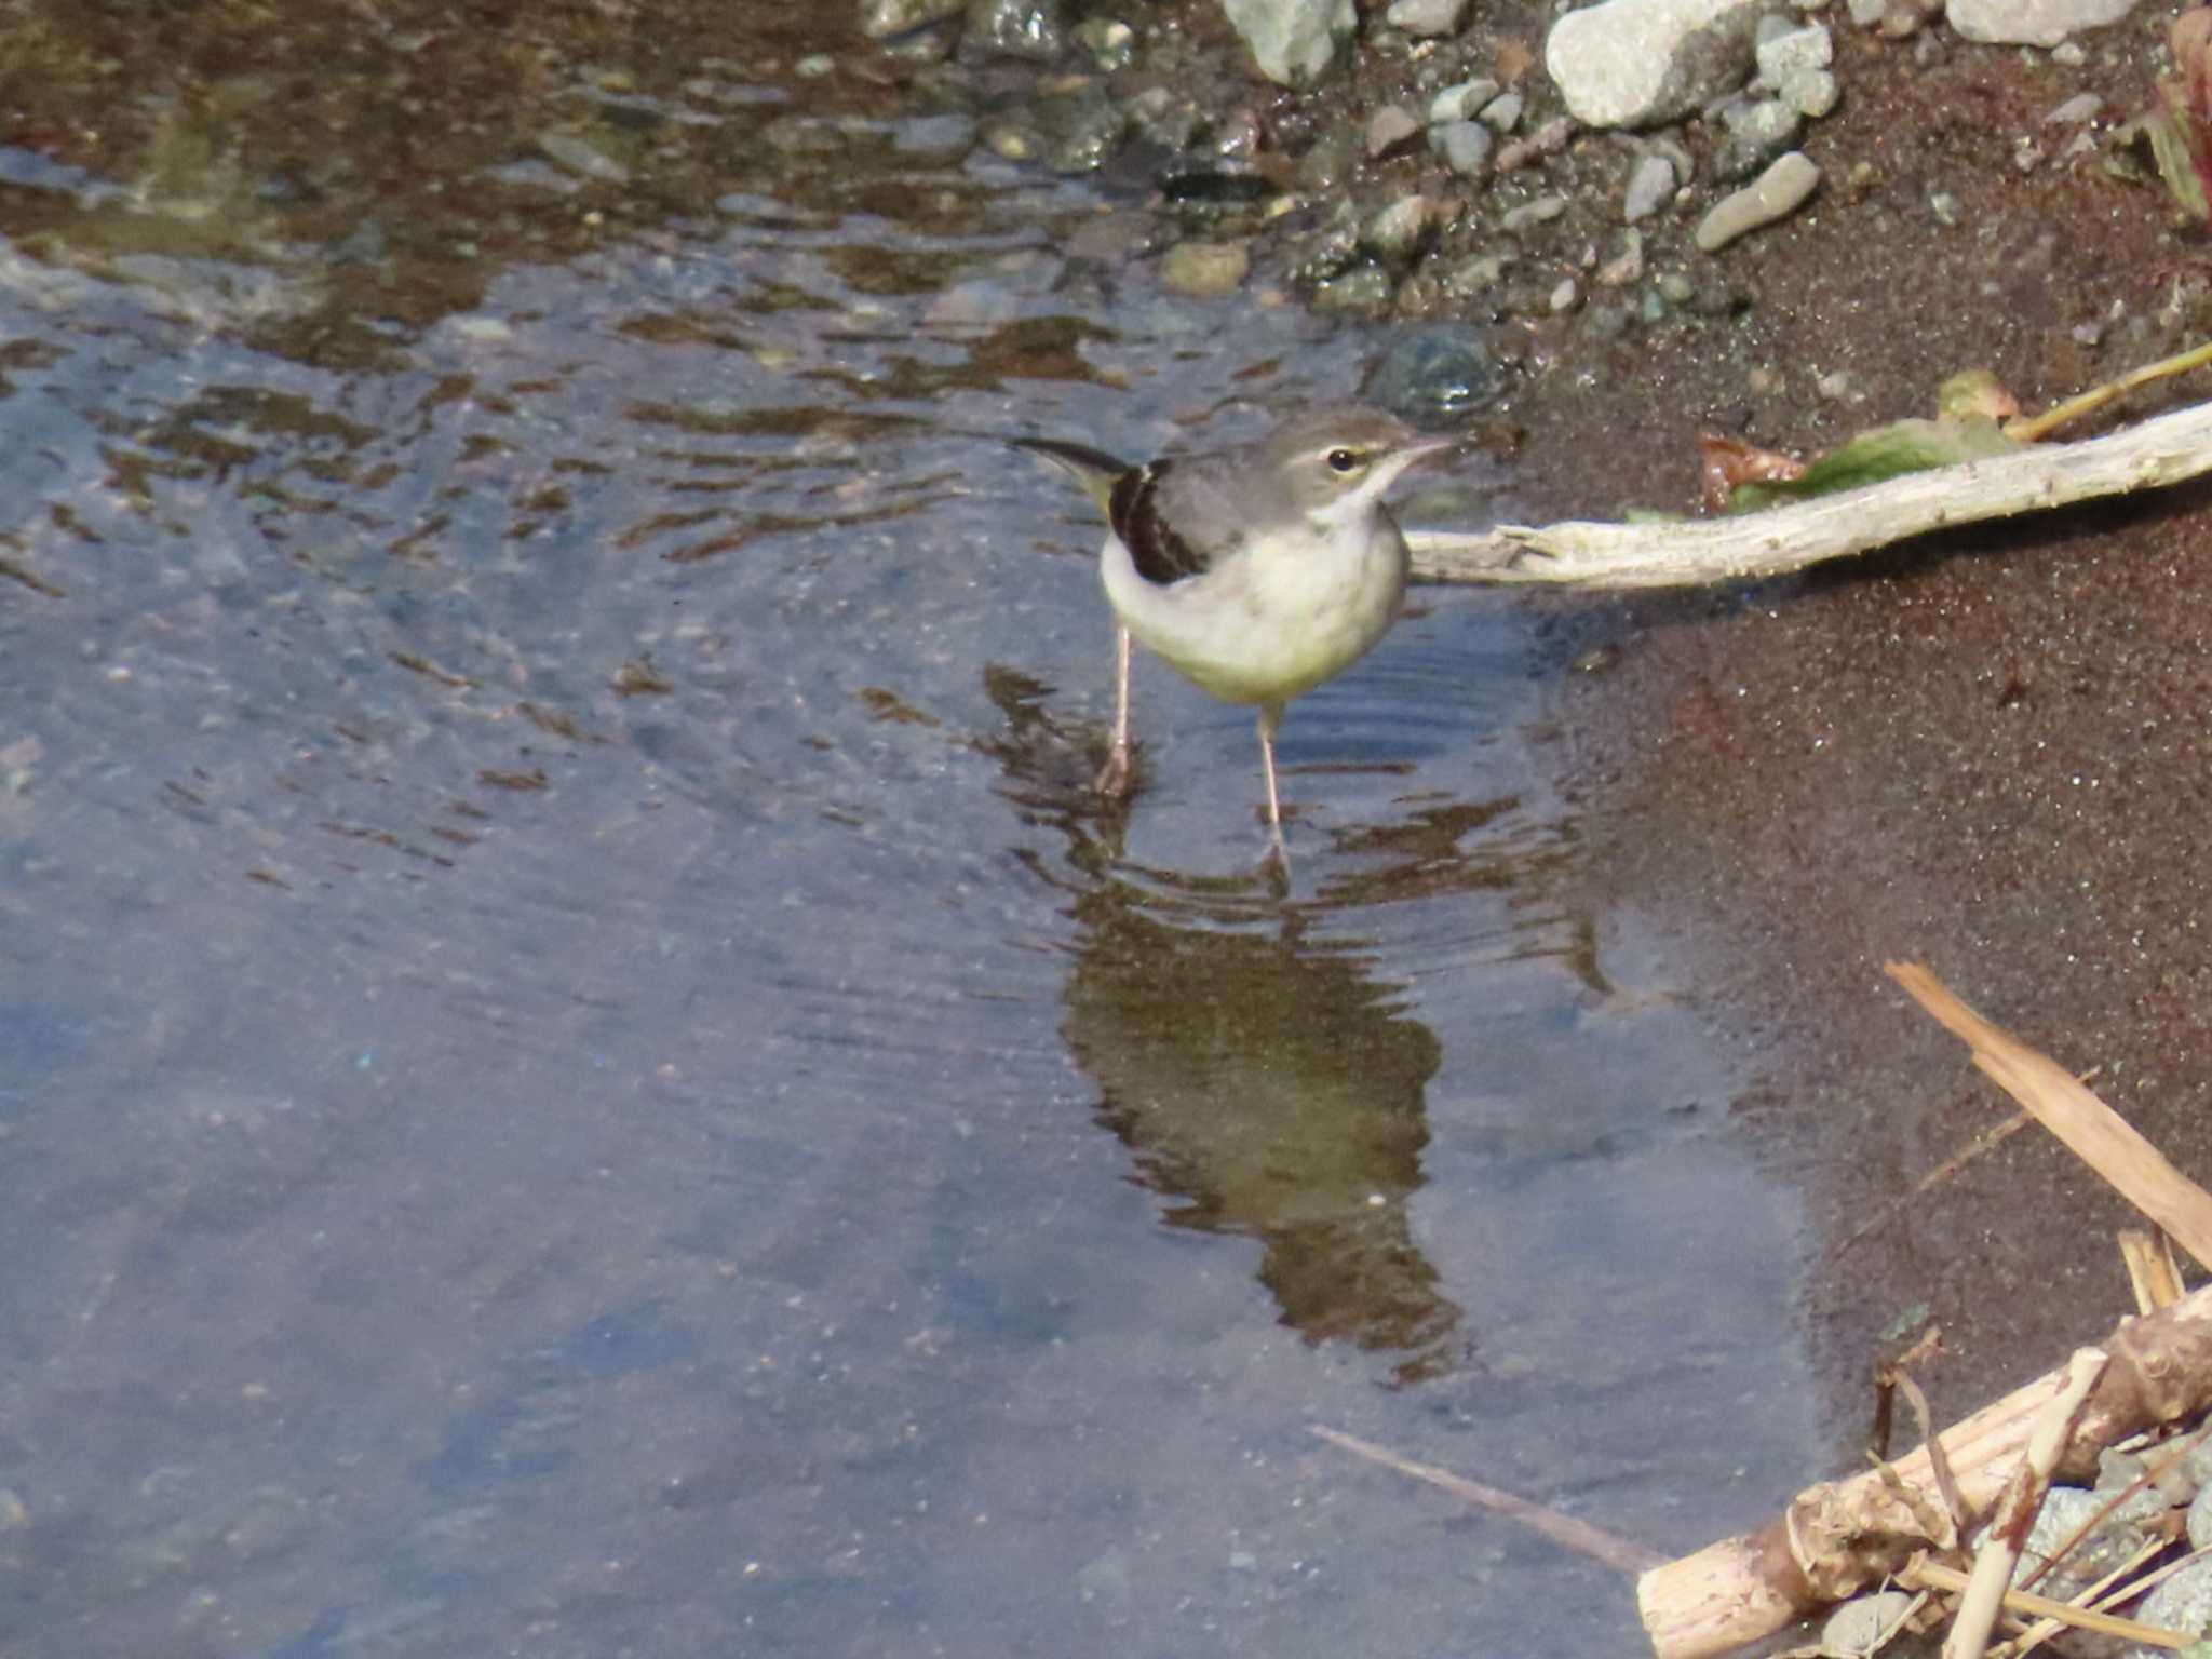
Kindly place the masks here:
<instances>
[{"instance_id":1,"label":"small grey bird with pale yellowish belly wading in the water","mask_svg":"<svg viewBox=\"0 0 2212 1659\"><path fill-rule=\"evenodd\" d=\"M1254 445L1128 467L1084 445L1015 438L1075 476L1104 509L1099 575L1113 604L1113 750L1104 794L1128 787L1128 641L1203 690L1259 703L1270 849L1283 849L1274 732L1298 692L1340 675L1389 633L1407 549L1383 504L1416 460L1451 449L1380 409L1292 416Z\"/></svg>"}]
</instances>

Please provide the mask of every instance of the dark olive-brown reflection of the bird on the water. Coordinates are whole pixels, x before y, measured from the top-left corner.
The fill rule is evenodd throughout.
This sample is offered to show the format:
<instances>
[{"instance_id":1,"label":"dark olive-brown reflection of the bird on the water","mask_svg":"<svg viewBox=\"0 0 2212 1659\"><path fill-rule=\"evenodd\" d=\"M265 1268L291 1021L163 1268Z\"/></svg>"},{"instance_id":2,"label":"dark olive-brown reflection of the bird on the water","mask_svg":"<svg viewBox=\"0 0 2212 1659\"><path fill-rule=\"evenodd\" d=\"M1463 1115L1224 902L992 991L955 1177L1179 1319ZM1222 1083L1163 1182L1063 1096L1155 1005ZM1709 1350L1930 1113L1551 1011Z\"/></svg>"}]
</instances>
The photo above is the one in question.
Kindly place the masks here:
<instances>
[{"instance_id":1,"label":"dark olive-brown reflection of the bird on the water","mask_svg":"<svg viewBox=\"0 0 2212 1659\"><path fill-rule=\"evenodd\" d=\"M1006 670L987 684L1009 717L984 741L1004 794L1066 834L1088 876L1035 863L1079 929L1062 1033L1166 1221L1256 1239L1259 1276L1307 1340L1391 1354L1398 1383L1453 1369L1462 1314L1409 1212L1436 1035L1356 949L1305 938L1307 914L1265 872L1157 887L1115 874L1119 816L1088 792L1044 688Z\"/></svg>"}]
</instances>

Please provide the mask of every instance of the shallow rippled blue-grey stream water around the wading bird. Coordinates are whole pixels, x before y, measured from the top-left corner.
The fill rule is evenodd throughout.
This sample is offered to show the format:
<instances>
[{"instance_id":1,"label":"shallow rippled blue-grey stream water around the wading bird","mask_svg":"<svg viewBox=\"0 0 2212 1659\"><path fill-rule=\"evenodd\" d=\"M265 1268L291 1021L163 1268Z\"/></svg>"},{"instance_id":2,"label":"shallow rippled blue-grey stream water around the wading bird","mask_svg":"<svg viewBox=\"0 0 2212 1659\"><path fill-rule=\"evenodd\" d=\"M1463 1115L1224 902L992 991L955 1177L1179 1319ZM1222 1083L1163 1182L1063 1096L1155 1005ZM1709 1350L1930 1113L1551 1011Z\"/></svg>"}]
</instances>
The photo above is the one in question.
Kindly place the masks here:
<instances>
[{"instance_id":1,"label":"shallow rippled blue-grey stream water around the wading bird","mask_svg":"<svg viewBox=\"0 0 2212 1659\"><path fill-rule=\"evenodd\" d=\"M1670 1553L1812 1473L1566 648L1438 593L1301 699L1287 889L1157 664L1097 803L1097 529L998 438L1376 338L714 40L352 215L239 142L274 71L0 153L0 1644L1632 1652L1310 1436Z\"/></svg>"}]
</instances>

